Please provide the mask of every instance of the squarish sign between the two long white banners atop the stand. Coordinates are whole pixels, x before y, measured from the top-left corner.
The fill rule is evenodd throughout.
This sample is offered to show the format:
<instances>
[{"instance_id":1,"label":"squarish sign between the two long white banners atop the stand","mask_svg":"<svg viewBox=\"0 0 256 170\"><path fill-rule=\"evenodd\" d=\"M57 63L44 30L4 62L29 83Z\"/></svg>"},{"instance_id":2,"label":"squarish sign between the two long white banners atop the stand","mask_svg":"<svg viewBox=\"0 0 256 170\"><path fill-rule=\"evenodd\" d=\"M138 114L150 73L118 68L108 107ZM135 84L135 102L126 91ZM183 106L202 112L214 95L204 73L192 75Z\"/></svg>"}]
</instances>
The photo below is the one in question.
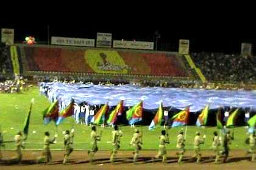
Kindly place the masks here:
<instances>
[{"instance_id":1,"label":"squarish sign between the two long white banners atop the stand","mask_svg":"<svg viewBox=\"0 0 256 170\"><path fill-rule=\"evenodd\" d=\"M112 47L112 33L97 33L96 47Z\"/></svg>"}]
</instances>

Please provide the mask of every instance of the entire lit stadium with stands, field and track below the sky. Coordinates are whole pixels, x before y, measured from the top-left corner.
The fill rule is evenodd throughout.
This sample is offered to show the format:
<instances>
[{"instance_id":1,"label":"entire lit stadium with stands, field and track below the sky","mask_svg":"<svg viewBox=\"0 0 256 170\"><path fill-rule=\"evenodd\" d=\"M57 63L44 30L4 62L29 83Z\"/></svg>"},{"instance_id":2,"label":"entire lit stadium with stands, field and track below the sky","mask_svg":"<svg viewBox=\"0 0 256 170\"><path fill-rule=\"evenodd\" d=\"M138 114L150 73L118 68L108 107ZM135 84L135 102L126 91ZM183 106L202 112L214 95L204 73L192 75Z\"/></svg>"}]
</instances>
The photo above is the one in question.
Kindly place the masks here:
<instances>
[{"instance_id":1,"label":"entire lit stadium with stands, field and track below the sky","mask_svg":"<svg viewBox=\"0 0 256 170\"><path fill-rule=\"evenodd\" d=\"M13 29L2 29L1 168L254 169L256 61L252 44L241 44L239 54L226 54L190 52L188 39L177 42L178 51L169 51L157 50L152 41L115 40L112 33L97 33L94 39L51 36L48 43L32 36L16 43L14 34ZM93 127L101 135L92 161L87 151L93 151ZM122 137L112 161L114 127ZM74 151L63 163L67 130L74 134ZM20 131L25 138L22 159L17 161L13 138ZM155 157L163 131L167 154ZM50 162L38 161L45 150L45 132L55 136ZM136 162L130 144L135 132L142 145ZM177 149L180 132L185 138L182 152ZM217 163L214 132L220 139ZM229 132L232 141L226 158L222 143ZM194 146L198 134L203 140L201 150ZM254 146L247 153L251 138Z\"/></svg>"}]
</instances>

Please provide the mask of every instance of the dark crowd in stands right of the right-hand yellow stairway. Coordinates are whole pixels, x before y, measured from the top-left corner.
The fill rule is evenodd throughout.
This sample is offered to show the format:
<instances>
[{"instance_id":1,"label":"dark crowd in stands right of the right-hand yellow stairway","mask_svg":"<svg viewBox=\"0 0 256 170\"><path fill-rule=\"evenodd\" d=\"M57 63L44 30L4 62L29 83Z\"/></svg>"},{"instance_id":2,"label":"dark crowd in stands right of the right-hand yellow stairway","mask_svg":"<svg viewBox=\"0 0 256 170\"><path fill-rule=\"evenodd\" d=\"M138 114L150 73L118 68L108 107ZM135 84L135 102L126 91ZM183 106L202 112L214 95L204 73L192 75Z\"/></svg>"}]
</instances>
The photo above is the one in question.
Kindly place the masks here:
<instances>
[{"instance_id":1,"label":"dark crowd in stands right of the right-hand yellow stairway","mask_svg":"<svg viewBox=\"0 0 256 170\"><path fill-rule=\"evenodd\" d=\"M222 83L255 83L254 56L224 53L192 53L193 61L209 81Z\"/></svg>"}]
</instances>

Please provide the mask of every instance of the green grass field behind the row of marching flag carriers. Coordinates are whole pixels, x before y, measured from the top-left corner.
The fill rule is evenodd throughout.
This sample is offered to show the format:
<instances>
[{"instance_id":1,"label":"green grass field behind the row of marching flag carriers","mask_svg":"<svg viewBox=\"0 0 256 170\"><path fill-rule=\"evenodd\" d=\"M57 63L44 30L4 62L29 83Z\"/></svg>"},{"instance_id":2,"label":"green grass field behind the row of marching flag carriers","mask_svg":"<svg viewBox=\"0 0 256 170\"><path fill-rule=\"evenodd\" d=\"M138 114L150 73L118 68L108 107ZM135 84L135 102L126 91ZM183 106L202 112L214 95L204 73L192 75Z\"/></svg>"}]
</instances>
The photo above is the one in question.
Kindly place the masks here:
<instances>
[{"instance_id":1,"label":"green grass field behind the row of marching flag carriers","mask_svg":"<svg viewBox=\"0 0 256 170\"><path fill-rule=\"evenodd\" d=\"M49 131L53 137L56 127L53 123L48 125L43 124L41 112L49 106L49 101L46 97L39 95L37 87L32 87L29 91L22 94L0 94L0 124L1 131L4 134L4 140L13 140L16 132L23 129L24 119L29 110L30 100L35 98L35 104L32 109L32 116L30 118L29 136L26 141L26 149L41 149L43 148L44 132ZM63 149L63 134L62 131L71 128L72 118L63 121L58 127L59 137L57 143L52 144L51 148ZM75 149L88 149L90 148L90 127L76 124L75 126ZM148 126L137 127L143 131L143 149L157 149L158 137L162 127L155 131L148 131ZM169 129L170 144L167 149L176 149L176 137L181 127ZM183 127L185 128L185 127ZM98 131L102 127L98 127ZM132 138L133 129L130 126L121 126L123 137L121 138L121 149L132 150L129 146ZM35 133L32 133L35 131ZM207 136L205 144L202 144L202 149L210 149L212 144L213 131L217 131L216 127L196 127L188 126L186 149L193 149L193 138L196 131ZM233 149L246 149L248 146L244 143L247 138L246 129L244 127L235 128L235 140L232 143ZM112 127L105 127L103 129L102 140L99 142L99 149L107 150L112 148ZM3 149L14 149L13 143L6 143Z\"/></svg>"}]
</instances>

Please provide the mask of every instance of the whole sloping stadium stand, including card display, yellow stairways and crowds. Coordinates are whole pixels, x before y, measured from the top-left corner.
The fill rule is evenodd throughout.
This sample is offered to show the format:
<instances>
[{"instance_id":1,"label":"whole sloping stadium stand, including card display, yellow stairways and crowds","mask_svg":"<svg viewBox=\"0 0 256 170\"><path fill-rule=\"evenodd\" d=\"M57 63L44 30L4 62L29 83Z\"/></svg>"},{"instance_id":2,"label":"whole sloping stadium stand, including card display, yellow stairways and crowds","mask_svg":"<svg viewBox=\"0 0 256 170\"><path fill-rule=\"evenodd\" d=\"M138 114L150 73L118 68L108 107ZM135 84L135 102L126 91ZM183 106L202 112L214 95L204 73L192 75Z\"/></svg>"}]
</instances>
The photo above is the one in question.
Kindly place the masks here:
<instances>
[{"instance_id":1,"label":"whole sloping stadium stand, including card display, yellow stairways and crowds","mask_svg":"<svg viewBox=\"0 0 256 170\"><path fill-rule=\"evenodd\" d=\"M255 83L256 61L251 56L224 53L155 52L17 44L1 47L1 75L64 75L64 77L141 77ZM166 81L166 80L164 80Z\"/></svg>"}]
</instances>

